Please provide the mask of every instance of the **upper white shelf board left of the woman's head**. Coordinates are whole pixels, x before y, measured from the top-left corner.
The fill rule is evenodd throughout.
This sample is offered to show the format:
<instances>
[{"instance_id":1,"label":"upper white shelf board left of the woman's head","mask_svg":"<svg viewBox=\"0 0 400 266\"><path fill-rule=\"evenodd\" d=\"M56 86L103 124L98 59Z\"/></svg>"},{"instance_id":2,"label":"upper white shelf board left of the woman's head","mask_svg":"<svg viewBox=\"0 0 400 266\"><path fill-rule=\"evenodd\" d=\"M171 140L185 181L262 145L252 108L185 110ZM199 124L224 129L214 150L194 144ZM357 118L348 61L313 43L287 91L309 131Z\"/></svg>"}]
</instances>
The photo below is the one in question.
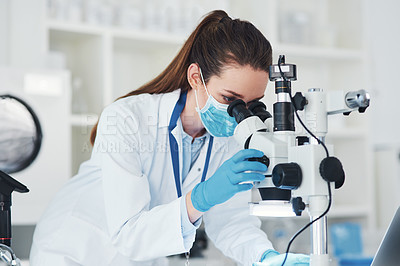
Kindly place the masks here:
<instances>
[{"instance_id":1,"label":"upper white shelf board left of the woman's head","mask_svg":"<svg viewBox=\"0 0 400 266\"><path fill-rule=\"evenodd\" d=\"M131 30L117 27L94 26L84 23L70 23L57 20L48 20L47 27L51 31L78 33L85 35L110 35L114 38L131 41L147 42L149 44L181 45L185 41L184 36L168 32L150 32L145 30Z\"/></svg>"}]
</instances>

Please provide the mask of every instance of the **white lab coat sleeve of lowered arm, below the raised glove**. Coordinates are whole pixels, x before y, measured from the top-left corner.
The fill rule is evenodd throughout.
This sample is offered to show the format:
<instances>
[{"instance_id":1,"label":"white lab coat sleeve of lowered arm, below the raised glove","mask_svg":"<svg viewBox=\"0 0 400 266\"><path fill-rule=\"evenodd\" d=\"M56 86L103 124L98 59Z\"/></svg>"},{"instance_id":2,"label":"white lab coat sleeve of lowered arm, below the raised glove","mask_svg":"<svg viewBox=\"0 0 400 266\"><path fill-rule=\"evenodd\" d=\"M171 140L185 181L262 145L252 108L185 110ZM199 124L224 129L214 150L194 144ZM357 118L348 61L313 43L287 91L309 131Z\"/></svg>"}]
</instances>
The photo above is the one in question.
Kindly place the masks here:
<instances>
[{"instance_id":1,"label":"white lab coat sleeve of lowered arm, below the raised glove","mask_svg":"<svg viewBox=\"0 0 400 266\"><path fill-rule=\"evenodd\" d=\"M240 192L227 202L216 205L203 216L208 237L226 256L241 265L252 265L262 254L273 249L260 229L261 221L249 215L251 192Z\"/></svg>"}]
</instances>

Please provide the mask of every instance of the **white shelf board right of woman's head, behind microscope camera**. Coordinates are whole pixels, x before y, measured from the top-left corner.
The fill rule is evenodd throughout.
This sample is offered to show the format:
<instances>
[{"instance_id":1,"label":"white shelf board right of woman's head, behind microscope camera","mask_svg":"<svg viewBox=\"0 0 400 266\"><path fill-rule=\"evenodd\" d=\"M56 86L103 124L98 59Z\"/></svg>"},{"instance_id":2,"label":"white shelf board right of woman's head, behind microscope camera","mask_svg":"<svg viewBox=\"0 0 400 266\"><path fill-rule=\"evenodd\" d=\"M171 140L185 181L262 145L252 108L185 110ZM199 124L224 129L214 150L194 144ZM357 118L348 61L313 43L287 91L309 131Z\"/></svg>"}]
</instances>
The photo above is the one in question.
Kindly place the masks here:
<instances>
[{"instance_id":1,"label":"white shelf board right of woman's head, behind microscope camera","mask_svg":"<svg viewBox=\"0 0 400 266\"><path fill-rule=\"evenodd\" d=\"M290 57L307 59L329 59L329 60L363 60L363 51L355 49L310 47L303 45L275 44L274 53L285 54Z\"/></svg>"}]
</instances>

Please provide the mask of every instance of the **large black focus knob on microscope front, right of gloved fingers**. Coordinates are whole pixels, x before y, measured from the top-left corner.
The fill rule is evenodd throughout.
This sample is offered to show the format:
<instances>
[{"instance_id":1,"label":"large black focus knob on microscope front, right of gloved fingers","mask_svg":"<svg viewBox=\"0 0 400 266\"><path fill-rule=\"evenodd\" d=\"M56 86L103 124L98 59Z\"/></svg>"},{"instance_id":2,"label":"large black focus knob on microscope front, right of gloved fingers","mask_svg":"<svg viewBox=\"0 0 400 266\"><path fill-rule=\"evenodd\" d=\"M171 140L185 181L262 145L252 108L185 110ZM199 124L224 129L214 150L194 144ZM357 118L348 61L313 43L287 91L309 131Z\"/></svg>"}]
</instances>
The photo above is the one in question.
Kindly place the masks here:
<instances>
[{"instance_id":1,"label":"large black focus knob on microscope front, right of gloved fingers","mask_svg":"<svg viewBox=\"0 0 400 266\"><path fill-rule=\"evenodd\" d=\"M278 188L297 189L302 180L303 174L297 163L277 164L272 170L272 182Z\"/></svg>"}]
</instances>

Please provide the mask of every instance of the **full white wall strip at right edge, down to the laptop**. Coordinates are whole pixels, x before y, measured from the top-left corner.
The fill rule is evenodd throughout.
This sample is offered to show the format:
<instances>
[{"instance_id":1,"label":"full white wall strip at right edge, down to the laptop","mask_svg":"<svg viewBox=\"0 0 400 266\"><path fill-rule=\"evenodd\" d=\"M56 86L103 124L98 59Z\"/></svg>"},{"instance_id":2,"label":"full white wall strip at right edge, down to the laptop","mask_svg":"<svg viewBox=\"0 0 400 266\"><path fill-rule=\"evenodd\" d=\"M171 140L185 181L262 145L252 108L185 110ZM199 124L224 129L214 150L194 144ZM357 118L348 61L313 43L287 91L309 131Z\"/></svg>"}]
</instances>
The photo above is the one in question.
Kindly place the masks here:
<instances>
[{"instance_id":1,"label":"full white wall strip at right edge, down to the laptop","mask_svg":"<svg viewBox=\"0 0 400 266\"><path fill-rule=\"evenodd\" d=\"M375 148L378 228L386 229L400 206L400 2L367 1L371 132Z\"/></svg>"}]
</instances>

